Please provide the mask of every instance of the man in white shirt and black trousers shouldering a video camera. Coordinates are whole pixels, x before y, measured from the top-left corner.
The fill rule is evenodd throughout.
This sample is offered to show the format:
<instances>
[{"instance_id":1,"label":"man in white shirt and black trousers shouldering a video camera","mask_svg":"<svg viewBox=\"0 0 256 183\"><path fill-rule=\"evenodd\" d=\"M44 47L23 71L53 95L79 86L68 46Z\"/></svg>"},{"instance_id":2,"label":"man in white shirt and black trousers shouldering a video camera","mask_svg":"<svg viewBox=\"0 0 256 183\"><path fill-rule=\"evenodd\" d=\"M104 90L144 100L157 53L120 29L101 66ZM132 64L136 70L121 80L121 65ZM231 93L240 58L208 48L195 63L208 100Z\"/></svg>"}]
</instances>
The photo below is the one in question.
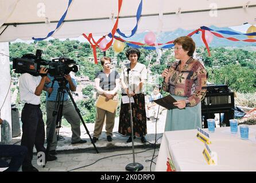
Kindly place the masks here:
<instances>
[{"instance_id":1,"label":"man in white shirt and black trousers shouldering a video camera","mask_svg":"<svg viewBox=\"0 0 256 183\"><path fill-rule=\"evenodd\" d=\"M38 170L32 166L34 145L36 146L37 152L45 152L46 150L44 148L44 121L42 120L42 112L40 109L40 94L42 93L44 83L49 82L46 73L47 69L41 67L40 75L42 75L42 77L24 73L21 74L19 79L21 101L25 102L21 113L23 132L21 145L28 148L28 154L22 164L23 172L38 172ZM53 161L56 160L56 157L48 156L46 160Z\"/></svg>"}]
</instances>

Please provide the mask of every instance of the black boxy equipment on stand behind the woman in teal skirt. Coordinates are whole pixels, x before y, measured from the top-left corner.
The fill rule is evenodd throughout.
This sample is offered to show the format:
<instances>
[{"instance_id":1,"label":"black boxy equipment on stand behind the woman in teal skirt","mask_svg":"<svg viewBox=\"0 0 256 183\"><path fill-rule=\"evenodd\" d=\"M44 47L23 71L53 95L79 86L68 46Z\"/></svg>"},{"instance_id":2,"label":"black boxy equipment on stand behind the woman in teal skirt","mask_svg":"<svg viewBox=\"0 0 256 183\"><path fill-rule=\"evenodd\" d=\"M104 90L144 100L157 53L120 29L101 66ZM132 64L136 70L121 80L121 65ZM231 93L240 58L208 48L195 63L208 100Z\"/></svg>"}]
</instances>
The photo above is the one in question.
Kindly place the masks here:
<instances>
[{"instance_id":1,"label":"black boxy equipment on stand behind the woman in teal skirt","mask_svg":"<svg viewBox=\"0 0 256 183\"><path fill-rule=\"evenodd\" d=\"M229 120L234 119L234 108L234 92L230 92L227 85L207 85L207 92L201 101L203 128L208 128L206 120L214 118L215 113L224 113L223 124L230 126Z\"/></svg>"}]
</instances>

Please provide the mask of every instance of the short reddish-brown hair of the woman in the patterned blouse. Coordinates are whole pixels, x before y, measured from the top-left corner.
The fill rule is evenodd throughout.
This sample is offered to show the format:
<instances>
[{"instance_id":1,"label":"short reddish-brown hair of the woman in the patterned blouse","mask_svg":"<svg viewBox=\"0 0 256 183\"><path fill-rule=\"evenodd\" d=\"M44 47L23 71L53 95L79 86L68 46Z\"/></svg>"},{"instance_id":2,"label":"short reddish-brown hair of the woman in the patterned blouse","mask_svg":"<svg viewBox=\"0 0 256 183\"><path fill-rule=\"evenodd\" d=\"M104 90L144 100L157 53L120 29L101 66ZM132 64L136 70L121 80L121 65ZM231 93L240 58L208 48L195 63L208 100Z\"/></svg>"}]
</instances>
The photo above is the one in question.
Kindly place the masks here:
<instances>
[{"instance_id":1,"label":"short reddish-brown hair of the woman in the patterned blouse","mask_svg":"<svg viewBox=\"0 0 256 183\"><path fill-rule=\"evenodd\" d=\"M189 36L182 36L182 37L176 38L173 43L174 45L176 43L178 43L179 45L182 45L183 50L188 51L189 56L192 56L196 49L196 43Z\"/></svg>"}]
</instances>

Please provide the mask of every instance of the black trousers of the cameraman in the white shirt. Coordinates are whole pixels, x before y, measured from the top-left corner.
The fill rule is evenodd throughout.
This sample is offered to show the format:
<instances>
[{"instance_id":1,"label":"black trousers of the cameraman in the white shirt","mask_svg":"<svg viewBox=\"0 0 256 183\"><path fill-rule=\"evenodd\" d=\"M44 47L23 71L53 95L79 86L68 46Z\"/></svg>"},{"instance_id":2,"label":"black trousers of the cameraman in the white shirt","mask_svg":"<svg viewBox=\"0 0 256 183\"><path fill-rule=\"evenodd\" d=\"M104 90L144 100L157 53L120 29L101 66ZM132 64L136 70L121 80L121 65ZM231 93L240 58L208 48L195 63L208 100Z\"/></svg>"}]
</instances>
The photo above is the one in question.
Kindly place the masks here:
<instances>
[{"instance_id":1,"label":"black trousers of the cameraman in the white shirt","mask_svg":"<svg viewBox=\"0 0 256 183\"><path fill-rule=\"evenodd\" d=\"M28 154L22 166L30 166L32 165L34 145L37 152L45 152L45 129L40 105L25 104L21 113L21 121L21 145L28 148Z\"/></svg>"}]
</instances>

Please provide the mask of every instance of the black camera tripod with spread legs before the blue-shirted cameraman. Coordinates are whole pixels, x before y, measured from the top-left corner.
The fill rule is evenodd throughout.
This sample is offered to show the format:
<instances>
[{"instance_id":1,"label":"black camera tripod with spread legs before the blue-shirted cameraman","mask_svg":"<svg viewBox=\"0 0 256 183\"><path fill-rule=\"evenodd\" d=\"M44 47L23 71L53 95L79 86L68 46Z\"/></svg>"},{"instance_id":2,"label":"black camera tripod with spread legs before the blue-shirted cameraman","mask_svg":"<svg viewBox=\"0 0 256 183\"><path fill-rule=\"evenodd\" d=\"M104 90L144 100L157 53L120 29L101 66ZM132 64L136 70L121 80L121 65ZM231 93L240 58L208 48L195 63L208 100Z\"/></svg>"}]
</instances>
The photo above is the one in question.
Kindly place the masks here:
<instances>
[{"instance_id":1,"label":"black camera tripod with spread legs before the blue-shirted cameraman","mask_svg":"<svg viewBox=\"0 0 256 183\"><path fill-rule=\"evenodd\" d=\"M67 80L65 80L65 78L63 78L63 77L61 77L61 78L55 77L53 79L51 87L53 87L55 81L57 81L59 83L59 88L58 88L57 96L56 96L55 109L53 110L53 113L52 113L52 122L51 122L51 126L50 126L49 136L47 138L47 147L46 147L45 156L48 157L49 148L52 144L52 139L53 139L53 135L55 133L56 128L57 128L57 132L56 132L57 137L59 136L59 128L61 126L61 117L63 115L63 102L64 102L65 92L68 93L68 95L69 95L69 97L70 97L70 99L73 103L73 106L75 107L75 110L76 110L77 114L79 115L80 120L82 121L82 124L84 125L84 128L86 129L86 132L87 132L88 136L91 139L92 145L94 145L94 149L96 150L96 153L99 153L98 149L96 148L96 146L94 144L94 141L92 141L90 132L88 131L88 129L86 127L86 124L83 120L83 117L80 113L80 110L77 108L77 105L76 105L75 101L73 100L72 94L71 94L69 88L66 86L67 85ZM48 95L48 97L50 95L51 95L51 93ZM57 125L57 127L56 127L56 125ZM57 140L58 140L58 138L57 138ZM46 163L46 161L45 161L45 163Z\"/></svg>"}]
</instances>

